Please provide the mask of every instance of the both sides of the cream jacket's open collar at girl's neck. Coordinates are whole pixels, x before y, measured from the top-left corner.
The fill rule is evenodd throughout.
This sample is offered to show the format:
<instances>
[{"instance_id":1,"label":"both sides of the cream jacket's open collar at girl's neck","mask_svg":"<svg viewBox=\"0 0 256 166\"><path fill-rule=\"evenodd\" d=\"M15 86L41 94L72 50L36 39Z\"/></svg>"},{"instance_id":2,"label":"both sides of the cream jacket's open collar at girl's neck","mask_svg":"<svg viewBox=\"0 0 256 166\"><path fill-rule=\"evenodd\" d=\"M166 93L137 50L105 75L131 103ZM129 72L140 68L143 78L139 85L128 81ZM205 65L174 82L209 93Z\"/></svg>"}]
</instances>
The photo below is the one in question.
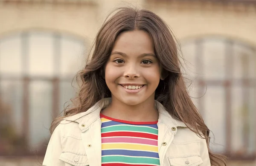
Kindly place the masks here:
<instances>
[{"instance_id":1,"label":"both sides of the cream jacket's open collar at girl's neck","mask_svg":"<svg viewBox=\"0 0 256 166\"><path fill-rule=\"evenodd\" d=\"M111 103L111 98L104 98L98 101L96 104L93 105L89 110L86 112L78 113L76 115L64 118L66 121L75 121L79 124L84 124L85 127L89 127L94 121L99 119L99 113L102 109L107 107ZM155 105L159 112L159 120L158 123L164 123L170 129L172 127L186 127L182 121L176 120L172 118L172 116L166 111L163 105L155 100ZM81 125L80 125L81 126Z\"/></svg>"}]
</instances>

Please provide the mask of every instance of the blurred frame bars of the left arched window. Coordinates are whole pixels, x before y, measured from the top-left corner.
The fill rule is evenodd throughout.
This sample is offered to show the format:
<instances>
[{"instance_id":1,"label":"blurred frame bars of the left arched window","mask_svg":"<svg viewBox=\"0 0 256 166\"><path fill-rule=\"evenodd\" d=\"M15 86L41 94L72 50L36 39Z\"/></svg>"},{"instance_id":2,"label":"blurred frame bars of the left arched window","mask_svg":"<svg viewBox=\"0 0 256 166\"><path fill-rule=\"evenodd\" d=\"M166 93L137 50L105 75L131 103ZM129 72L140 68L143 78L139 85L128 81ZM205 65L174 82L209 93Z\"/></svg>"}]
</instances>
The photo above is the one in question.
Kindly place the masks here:
<instances>
[{"instance_id":1,"label":"blurred frame bars of the left arched window","mask_svg":"<svg viewBox=\"0 0 256 166\"><path fill-rule=\"evenodd\" d=\"M54 68L54 73L53 76L30 76L29 75L29 35L33 33L45 33L45 34L50 34L51 37L53 38L53 68ZM5 75L5 74L0 74L0 84L2 81L20 81L22 86L22 98L21 98L21 103L22 103L22 116L21 116L21 129L22 135L20 135L22 138L24 138L25 142L29 142L29 104L31 101L29 101L29 85L33 81L43 81L43 82L49 82L52 84L52 110L50 111L52 115L52 120L57 118L58 115L60 115L60 107L59 103L61 102L61 83L70 83L71 87L71 82L74 79L73 75L67 74L66 76L61 76L61 38L68 38L68 40L76 40L77 42L84 43L84 38L72 35L72 34L61 34L57 31L40 31L40 30L27 30L23 31L21 33L12 33L12 34L7 34L3 37L0 38L0 44L3 40L8 39L13 36L17 36L18 38L21 39L21 74L14 74L14 75ZM84 43L83 45L83 51L84 53L84 47L87 43ZM0 97L3 97L0 93ZM43 140L42 140L43 141ZM49 141L49 140L48 140ZM38 151L36 152L36 155L38 156L44 156L46 152L47 146L45 146L44 142L42 143L41 146L38 147ZM0 153L0 155L5 156L8 154L5 153ZM12 156L33 156L35 155L35 152L32 152L30 149L17 149Z\"/></svg>"}]
</instances>

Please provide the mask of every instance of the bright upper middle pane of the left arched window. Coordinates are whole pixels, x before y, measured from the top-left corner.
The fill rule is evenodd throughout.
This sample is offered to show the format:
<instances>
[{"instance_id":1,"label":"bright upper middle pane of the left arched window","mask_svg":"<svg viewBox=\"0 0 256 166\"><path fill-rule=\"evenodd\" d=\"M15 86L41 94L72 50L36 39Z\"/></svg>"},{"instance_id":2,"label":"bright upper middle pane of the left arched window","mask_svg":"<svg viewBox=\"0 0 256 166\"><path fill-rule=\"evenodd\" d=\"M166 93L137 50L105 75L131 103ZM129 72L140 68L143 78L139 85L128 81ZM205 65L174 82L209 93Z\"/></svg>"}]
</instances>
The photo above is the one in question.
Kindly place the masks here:
<instances>
[{"instance_id":1,"label":"bright upper middle pane of the left arched window","mask_svg":"<svg viewBox=\"0 0 256 166\"><path fill-rule=\"evenodd\" d=\"M31 33L29 36L29 75L53 76L53 36L51 33Z\"/></svg>"}]
</instances>

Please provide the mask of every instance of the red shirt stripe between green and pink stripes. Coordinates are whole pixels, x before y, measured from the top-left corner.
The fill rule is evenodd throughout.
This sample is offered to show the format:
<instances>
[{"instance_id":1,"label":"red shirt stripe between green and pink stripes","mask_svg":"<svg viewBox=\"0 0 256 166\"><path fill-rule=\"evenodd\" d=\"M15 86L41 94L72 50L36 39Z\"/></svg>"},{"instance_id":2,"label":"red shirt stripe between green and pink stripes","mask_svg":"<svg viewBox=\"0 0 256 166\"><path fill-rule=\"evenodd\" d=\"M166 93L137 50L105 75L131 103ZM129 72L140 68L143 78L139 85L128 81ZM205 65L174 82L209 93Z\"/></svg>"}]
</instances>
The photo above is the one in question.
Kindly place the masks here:
<instances>
[{"instance_id":1,"label":"red shirt stripe between green and pink stripes","mask_svg":"<svg viewBox=\"0 0 256 166\"><path fill-rule=\"evenodd\" d=\"M150 138L154 140L157 140L157 137L158 137L158 135L141 133L141 132L107 132L107 133L102 133L101 135L102 135L102 138L126 136L126 137Z\"/></svg>"}]
</instances>

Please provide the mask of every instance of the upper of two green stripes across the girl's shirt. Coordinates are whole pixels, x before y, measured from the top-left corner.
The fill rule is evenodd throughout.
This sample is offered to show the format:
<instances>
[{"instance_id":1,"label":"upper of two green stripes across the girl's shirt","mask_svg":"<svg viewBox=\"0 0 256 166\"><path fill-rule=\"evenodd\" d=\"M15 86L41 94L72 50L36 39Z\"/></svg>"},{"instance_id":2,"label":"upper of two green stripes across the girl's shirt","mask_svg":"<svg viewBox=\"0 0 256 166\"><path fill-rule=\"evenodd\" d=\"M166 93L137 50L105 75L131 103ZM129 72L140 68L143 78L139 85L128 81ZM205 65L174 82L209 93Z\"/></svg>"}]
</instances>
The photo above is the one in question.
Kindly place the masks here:
<instances>
[{"instance_id":1,"label":"upper of two green stripes across the girl's shirt","mask_svg":"<svg viewBox=\"0 0 256 166\"><path fill-rule=\"evenodd\" d=\"M111 127L105 127L101 129L101 132L113 132L113 131L134 131L134 132L149 132L151 134L158 134L157 129L149 128L149 127L137 127L137 126L111 126Z\"/></svg>"}]
</instances>

